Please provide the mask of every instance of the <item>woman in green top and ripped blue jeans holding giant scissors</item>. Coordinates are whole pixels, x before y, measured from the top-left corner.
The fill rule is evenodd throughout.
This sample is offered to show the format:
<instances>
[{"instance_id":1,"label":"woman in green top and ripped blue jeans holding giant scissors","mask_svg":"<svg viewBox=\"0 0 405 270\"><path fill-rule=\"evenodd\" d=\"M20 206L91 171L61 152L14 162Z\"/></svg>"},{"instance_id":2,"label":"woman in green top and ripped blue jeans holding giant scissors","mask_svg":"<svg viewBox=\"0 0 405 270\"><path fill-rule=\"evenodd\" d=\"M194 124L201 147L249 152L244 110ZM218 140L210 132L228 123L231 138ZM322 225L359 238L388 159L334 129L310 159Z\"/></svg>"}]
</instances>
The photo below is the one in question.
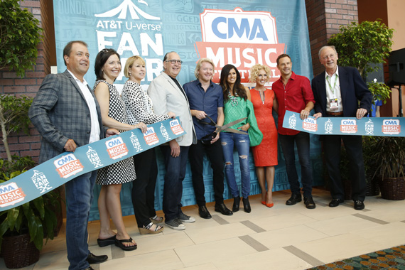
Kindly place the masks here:
<instances>
[{"instance_id":1,"label":"woman in green top and ripped blue jeans holding giant scissors","mask_svg":"<svg viewBox=\"0 0 405 270\"><path fill-rule=\"evenodd\" d=\"M254 126L257 129L257 122L254 118L253 105L250 102L250 92L241 83L241 77L234 65L225 65L221 71L220 86L224 95L224 125L234 120L247 117L238 124L231 126L232 129L245 131L246 134L237 134L223 131L220 133L222 150L225 159L225 175L227 183L234 197L232 212L239 211L239 188L234 174L233 153L234 146L239 156L240 177L242 183L242 202L244 212L250 212L250 169L249 169L249 129Z\"/></svg>"}]
</instances>

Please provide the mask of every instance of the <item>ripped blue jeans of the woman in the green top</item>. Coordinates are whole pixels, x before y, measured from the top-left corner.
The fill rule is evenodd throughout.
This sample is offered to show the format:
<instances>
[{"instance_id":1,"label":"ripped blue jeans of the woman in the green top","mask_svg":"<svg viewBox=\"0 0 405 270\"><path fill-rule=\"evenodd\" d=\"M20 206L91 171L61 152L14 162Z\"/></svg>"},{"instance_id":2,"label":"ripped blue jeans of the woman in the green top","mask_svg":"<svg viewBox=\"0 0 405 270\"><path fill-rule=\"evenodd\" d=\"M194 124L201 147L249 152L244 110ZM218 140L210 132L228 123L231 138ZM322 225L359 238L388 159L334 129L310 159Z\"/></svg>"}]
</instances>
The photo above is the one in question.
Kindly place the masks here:
<instances>
[{"instance_id":1,"label":"ripped blue jeans of the woman in the green top","mask_svg":"<svg viewBox=\"0 0 405 270\"><path fill-rule=\"evenodd\" d=\"M249 135L221 132L222 151L225 160L225 175L233 197L239 196L234 173L234 146L239 155L240 178L242 183L242 197L247 198L250 193L250 169L249 169Z\"/></svg>"}]
</instances>

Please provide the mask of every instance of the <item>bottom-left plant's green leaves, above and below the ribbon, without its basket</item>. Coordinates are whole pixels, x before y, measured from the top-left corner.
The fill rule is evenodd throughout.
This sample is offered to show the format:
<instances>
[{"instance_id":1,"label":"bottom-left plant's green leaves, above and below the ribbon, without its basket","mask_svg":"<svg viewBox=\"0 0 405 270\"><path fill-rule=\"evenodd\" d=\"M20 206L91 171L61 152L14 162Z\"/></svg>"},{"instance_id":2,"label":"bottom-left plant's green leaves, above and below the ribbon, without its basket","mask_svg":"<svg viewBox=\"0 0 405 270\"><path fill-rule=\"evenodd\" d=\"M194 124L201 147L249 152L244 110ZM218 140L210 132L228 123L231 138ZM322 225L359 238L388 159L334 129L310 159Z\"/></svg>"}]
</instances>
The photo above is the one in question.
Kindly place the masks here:
<instances>
[{"instance_id":1,"label":"bottom-left plant's green leaves, above and below the ribbon, without its basket","mask_svg":"<svg viewBox=\"0 0 405 270\"><path fill-rule=\"evenodd\" d=\"M13 156L13 161L0 160L0 183L4 183L31 168L34 161L26 156ZM61 211L60 195L54 190L45 195L26 202L23 205L0 212L0 249L4 236L18 235L27 232L36 248L43 247L46 239L53 239L55 227L58 224L56 213Z\"/></svg>"}]
</instances>

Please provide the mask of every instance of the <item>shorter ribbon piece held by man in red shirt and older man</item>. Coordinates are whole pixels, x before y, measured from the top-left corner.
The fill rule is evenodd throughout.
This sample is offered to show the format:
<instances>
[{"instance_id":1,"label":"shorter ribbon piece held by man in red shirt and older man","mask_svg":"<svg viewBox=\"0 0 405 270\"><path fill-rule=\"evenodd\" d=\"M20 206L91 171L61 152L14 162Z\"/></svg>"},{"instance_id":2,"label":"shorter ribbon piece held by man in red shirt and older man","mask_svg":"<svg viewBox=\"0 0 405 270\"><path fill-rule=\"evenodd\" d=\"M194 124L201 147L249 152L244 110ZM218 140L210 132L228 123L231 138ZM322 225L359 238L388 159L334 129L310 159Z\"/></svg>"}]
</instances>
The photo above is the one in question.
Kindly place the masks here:
<instances>
[{"instance_id":1,"label":"shorter ribbon piece held by man in red shirt and older man","mask_svg":"<svg viewBox=\"0 0 405 270\"><path fill-rule=\"evenodd\" d=\"M283 127L318 135L363 135L404 137L403 117L308 117L301 120L297 112L286 111Z\"/></svg>"}]
</instances>

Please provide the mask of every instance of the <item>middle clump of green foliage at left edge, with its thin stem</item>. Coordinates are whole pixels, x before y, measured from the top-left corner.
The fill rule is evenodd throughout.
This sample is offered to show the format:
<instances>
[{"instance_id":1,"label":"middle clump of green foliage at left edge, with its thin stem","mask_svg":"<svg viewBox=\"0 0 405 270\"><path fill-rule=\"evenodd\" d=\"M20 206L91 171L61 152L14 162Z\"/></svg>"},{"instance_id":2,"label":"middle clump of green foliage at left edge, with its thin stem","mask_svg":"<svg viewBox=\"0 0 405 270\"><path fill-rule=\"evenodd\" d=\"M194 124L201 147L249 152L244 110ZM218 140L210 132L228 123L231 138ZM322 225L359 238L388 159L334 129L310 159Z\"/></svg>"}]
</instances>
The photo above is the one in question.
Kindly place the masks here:
<instances>
[{"instance_id":1,"label":"middle clump of green foliage at left edge, with its thin stem","mask_svg":"<svg viewBox=\"0 0 405 270\"><path fill-rule=\"evenodd\" d=\"M0 96L0 126L3 137L4 149L7 160L12 161L8 136L11 132L23 131L29 134L28 126L31 123L28 118L28 109L32 104L31 97L15 97L12 95Z\"/></svg>"}]
</instances>

